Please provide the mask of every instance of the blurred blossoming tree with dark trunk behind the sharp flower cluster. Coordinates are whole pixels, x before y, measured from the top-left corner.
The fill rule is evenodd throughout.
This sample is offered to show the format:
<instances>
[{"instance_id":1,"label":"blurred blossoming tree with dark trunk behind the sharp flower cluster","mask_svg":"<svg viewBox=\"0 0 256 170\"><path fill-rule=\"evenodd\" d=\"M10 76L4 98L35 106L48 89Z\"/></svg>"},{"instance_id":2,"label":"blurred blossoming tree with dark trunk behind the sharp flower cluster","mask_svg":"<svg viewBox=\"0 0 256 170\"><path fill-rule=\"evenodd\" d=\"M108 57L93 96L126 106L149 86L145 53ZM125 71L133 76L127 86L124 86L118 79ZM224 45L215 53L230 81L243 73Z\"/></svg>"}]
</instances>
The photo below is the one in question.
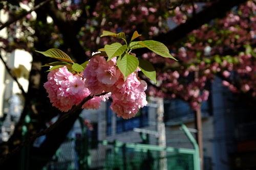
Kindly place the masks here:
<instances>
[{"instance_id":1,"label":"blurred blossoming tree with dark trunk behind the sharp flower cluster","mask_svg":"<svg viewBox=\"0 0 256 170\"><path fill-rule=\"evenodd\" d=\"M147 95L180 98L197 110L207 100L207 84L216 76L223 85L245 99L256 102L256 4L245 0L219 1L145 1L145 0L24 0L1 1L0 7L9 15L1 30L1 51L10 53L24 49L33 56L29 89L24 93L25 109L8 142L0 144L1 156L11 153L27 137L47 128L52 117L61 115L47 98L43 85L52 62L34 51L59 48L77 63L88 60L104 44L103 30L134 31L141 40L152 39L168 46L179 61L160 58L154 53L137 50L137 56L151 61L157 71L157 84L148 83ZM33 121L26 122L26 115ZM40 147L30 143L27 169L40 169L56 152L72 128L79 110L46 135ZM22 127L28 132L23 135ZM1 164L1 169L17 169L20 152ZM3 168L2 168L3 167Z\"/></svg>"}]
</instances>

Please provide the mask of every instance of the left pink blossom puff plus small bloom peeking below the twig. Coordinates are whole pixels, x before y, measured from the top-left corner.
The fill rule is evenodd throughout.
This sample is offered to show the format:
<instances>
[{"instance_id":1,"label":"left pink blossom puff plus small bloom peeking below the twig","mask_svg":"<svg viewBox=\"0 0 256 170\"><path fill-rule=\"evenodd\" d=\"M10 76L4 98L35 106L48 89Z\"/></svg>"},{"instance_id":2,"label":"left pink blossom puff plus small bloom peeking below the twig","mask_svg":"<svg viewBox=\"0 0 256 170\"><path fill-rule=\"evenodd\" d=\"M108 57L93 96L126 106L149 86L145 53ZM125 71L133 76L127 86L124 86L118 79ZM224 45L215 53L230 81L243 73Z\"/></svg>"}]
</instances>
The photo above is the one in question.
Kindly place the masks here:
<instances>
[{"instance_id":1,"label":"left pink blossom puff plus small bloom peeking below the twig","mask_svg":"<svg viewBox=\"0 0 256 170\"><path fill-rule=\"evenodd\" d=\"M73 75L66 66L54 69L48 74L48 82L44 84L50 102L61 111L69 111L74 105L78 105L84 98L90 95L88 88L84 87L84 79ZM86 109L98 109L100 101L108 99L109 95L95 97L82 107Z\"/></svg>"}]
</instances>

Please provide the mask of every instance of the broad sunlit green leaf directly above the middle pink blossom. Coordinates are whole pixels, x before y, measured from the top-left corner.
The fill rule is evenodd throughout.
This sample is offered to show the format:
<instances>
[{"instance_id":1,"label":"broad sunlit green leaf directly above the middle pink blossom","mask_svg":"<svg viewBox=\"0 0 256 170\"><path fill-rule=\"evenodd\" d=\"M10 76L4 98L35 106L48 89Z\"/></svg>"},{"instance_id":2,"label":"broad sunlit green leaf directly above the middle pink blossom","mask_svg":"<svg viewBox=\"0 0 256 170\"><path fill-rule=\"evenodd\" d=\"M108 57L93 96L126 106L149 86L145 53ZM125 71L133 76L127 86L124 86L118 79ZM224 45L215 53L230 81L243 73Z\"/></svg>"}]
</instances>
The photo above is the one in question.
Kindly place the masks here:
<instances>
[{"instance_id":1,"label":"broad sunlit green leaf directly above the middle pink blossom","mask_svg":"<svg viewBox=\"0 0 256 170\"><path fill-rule=\"evenodd\" d=\"M104 46L106 54L108 55L108 60L112 59L113 57L120 56L126 50L127 45L122 45L119 42L115 42L111 45L106 44Z\"/></svg>"}]
</instances>

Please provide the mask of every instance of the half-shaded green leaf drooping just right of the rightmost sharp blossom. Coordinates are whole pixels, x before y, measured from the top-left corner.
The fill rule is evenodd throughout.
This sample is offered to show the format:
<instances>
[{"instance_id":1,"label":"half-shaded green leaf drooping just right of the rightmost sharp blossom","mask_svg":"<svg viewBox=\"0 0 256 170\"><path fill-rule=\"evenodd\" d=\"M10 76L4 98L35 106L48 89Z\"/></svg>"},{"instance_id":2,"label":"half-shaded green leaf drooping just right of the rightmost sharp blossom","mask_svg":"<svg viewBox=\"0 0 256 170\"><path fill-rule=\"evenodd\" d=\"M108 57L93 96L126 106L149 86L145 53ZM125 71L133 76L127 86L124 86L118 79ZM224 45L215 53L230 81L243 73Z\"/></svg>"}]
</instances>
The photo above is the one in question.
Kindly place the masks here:
<instances>
[{"instance_id":1,"label":"half-shaded green leaf drooping just right of the rightmost sharp blossom","mask_svg":"<svg viewBox=\"0 0 256 170\"><path fill-rule=\"evenodd\" d=\"M146 77L150 78L152 81L157 83L156 70L154 66L151 64L151 62L147 60L139 59L139 68L141 69L141 71Z\"/></svg>"}]
</instances>

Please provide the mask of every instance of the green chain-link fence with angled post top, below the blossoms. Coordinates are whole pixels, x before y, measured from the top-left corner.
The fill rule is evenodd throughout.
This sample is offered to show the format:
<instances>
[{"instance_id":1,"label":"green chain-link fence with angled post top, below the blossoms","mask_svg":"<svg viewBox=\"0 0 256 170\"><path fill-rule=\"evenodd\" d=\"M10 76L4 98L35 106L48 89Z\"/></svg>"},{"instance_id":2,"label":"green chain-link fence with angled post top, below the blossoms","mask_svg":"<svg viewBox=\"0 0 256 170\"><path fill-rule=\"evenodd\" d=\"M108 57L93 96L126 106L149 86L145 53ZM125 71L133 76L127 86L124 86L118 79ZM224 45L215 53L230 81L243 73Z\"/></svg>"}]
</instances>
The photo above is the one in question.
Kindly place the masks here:
<instances>
[{"instance_id":1,"label":"green chain-link fence with angled post top, below the blossoms","mask_svg":"<svg viewBox=\"0 0 256 170\"><path fill-rule=\"evenodd\" d=\"M198 145L185 125L182 128L195 149L106 140L89 142L84 137L67 139L44 170L198 170ZM94 147L89 150L92 144Z\"/></svg>"}]
</instances>

